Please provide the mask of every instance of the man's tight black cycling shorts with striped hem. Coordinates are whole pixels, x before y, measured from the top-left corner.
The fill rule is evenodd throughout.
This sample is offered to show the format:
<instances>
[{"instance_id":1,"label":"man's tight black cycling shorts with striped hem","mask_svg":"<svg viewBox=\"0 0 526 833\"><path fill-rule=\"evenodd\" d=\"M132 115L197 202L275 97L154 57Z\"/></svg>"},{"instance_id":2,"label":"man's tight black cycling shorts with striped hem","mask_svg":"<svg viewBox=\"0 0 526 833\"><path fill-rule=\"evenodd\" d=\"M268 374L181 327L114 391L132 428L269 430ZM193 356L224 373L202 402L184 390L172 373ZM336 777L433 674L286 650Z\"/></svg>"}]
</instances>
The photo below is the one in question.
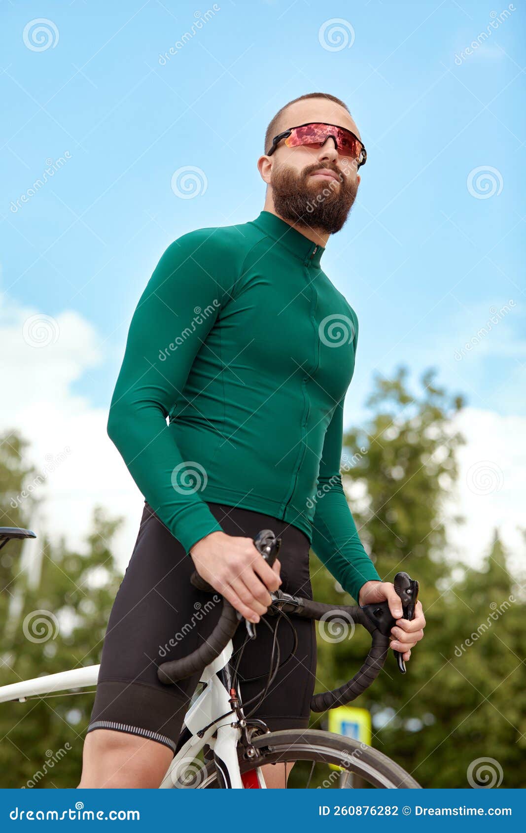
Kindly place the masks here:
<instances>
[{"instance_id":1,"label":"man's tight black cycling shorts with striped hem","mask_svg":"<svg viewBox=\"0 0 526 833\"><path fill-rule=\"evenodd\" d=\"M281 589L312 598L308 574L308 538L285 521L247 509L208 503L223 531L255 537L271 529L282 538ZM185 712L198 686L199 674L165 686L158 681L158 666L194 651L213 631L222 601L196 590L190 583L193 561L163 522L145 503L133 555L113 603L98 676L97 694L88 731L113 729L143 736L176 750ZM218 599L218 596L215 596ZM264 616L272 628L279 617ZM292 617L298 636L286 621L278 626L280 668L256 711L271 731L308 726L316 671L314 623ZM238 683L247 702L263 693L271 661L273 631L263 622L257 636L243 650ZM244 621L234 636L235 661L246 637ZM263 677L261 677L263 675ZM252 678L260 677L258 680ZM257 701L248 706L253 710Z\"/></svg>"}]
</instances>

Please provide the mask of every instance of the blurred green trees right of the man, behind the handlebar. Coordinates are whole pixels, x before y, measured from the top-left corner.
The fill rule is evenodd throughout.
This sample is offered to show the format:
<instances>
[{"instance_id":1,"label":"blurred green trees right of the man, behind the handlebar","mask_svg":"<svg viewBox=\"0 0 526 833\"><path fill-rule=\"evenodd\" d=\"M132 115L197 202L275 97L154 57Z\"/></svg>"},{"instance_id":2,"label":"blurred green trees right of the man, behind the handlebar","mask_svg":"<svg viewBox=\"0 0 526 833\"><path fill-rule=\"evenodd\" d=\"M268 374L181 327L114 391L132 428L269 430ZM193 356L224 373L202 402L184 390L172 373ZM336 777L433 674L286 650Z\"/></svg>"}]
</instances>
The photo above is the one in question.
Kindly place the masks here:
<instances>
[{"instance_id":1,"label":"blurred green trees right of the man, behind the handlebar","mask_svg":"<svg viewBox=\"0 0 526 833\"><path fill-rule=\"evenodd\" d=\"M453 578L460 570L448 557L443 504L457 478L456 451L463 438L453 431L451 420L463 402L438 387L432 373L423 377L422 392L412 396L407 372L401 370L392 380L377 380L368 405L368 424L344 438L342 471L352 486L353 515L384 581L393 581L398 571L420 581L428 625L408 673L399 675L388 656L383 674L356 705L373 715L373 746L423 786L468 786L468 766L483 756L496 758L505 768L503 786L518 786L521 776L515 759L523 744L519 730L524 726L518 718L523 695L517 692L514 721L504 704L516 684L524 688L523 666L515 671L510 667L513 662L518 666L518 657L524 656L524 646L518 644L523 638L518 628L522 601L513 604L471 654L454 656L458 641L478 626L484 611L486 616L492 612L493 602L499 605L508 598L513 584L498 541L489 566L463 571L465 586ZM347 594L338 597L332 577L315 558L311 574L317 598L353 603ZM318 636L318 689L340 686L358 669L369 644L368 636L359 631L340 642ZM510 643L509 650L499 640ZM495 706L501 700L499 714ZM513 750L507 751L510 742Z\"/></svg>"}]
</instances>

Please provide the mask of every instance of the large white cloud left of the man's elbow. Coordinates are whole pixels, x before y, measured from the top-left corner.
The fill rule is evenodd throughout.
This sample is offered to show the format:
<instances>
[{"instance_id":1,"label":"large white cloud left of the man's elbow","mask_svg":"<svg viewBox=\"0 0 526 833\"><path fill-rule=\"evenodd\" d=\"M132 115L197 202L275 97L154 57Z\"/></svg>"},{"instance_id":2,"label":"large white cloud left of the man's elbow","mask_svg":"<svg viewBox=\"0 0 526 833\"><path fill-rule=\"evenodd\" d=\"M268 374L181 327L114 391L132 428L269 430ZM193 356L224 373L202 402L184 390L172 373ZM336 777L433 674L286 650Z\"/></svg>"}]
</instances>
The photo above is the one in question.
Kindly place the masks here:
<instances>
[{"instance_id":1,"label":"large white cloud left of the man's elbow","mask_svg":"<svg viewBox=\"0 0 526 833\"><path fill-rule=\"evenodd\" d=\"M69 546L85 549L93 530L93 506L124 516L115 541L120 566L133 550L143 498L106 432L106 408L93 408L72 385L103 362L101 338L78 312L50 319L37 310L3 299L0 307L0 352L3 397L0 430L16 430L29 441L28 456L43 482L34 494L44 499L29 519L38 538L44 530ZM38 347L38 344L41 346ZM0 521L10 524L9 517ZM37 556L37 543L27 552Z\"/></svg>"}]
</instances>

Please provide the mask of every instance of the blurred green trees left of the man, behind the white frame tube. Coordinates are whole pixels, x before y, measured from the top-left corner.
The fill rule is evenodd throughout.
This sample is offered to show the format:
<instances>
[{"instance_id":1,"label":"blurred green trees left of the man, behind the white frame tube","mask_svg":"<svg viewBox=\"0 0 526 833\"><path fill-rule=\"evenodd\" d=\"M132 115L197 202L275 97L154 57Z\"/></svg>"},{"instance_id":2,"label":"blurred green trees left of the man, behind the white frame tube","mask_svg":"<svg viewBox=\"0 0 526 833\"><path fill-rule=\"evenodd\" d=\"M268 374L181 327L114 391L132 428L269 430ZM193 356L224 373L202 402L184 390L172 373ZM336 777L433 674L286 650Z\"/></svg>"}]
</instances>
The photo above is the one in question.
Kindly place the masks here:
<instances>
[{"instance_id":1,"label":"blurred green trees left of the man, behind the white frame tube","mask_svg":"<svg viewBox=\"0 0 526 833\"><path fill-rule=\"evenodd\" d=\"M19 501L34 471L21 460L23 441L9 440L12 450L2 458L2 526L30 526L34 501ZM95 665L99 661L109 611L118 590L119 574L111 551L121 521L102 509L93 516L86 551L52 544L42 531L28 543L41 561L38 581L20 572L20 543L2 551L3 648L0 685L35 676ZM38 556L38 557L37 557ZM30 578L32 580L30 580ZM9 616L7 616L7 611ZM44 611L36 614L35 611ZM0 771L3 787L72 787L80 776L83 734L93 706L93 693L30 698L0 705Z\"/></svg>"}]
</instances>

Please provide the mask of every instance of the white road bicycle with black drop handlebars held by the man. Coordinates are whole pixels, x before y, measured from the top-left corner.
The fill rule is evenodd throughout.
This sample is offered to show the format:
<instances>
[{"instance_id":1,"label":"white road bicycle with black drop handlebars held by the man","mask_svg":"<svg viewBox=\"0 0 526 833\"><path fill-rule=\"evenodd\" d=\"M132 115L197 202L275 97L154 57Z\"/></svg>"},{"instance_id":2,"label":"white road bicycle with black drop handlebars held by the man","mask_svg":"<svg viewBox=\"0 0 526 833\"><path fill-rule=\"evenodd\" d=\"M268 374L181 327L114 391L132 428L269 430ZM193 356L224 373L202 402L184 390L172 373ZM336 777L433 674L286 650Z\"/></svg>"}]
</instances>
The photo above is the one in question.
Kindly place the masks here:
<instances>
[{"instance_id":1,"label":"white road bicycle with black drop handlebars held by the man","mask_svg":"<svg viewBox=\"0 0 526 833\"><path fill-rule=\"evenodd\" d=\"M0 527L0 549L10 540L35 537L30 530ZM259 532L254 539L254 545L270 566L278 554L280 544L281 540L271 530ZM200 590L215 592L197 571L193 573L191 581ZM418 581L411 580L407 573L398 573L394 586L402 601L403 616L412 619L418 597ZM323 618L327 623L341 621L343 617L348 623L352 621L363 626L372 637L368 656L359 671L338 689L313 695L312 711L328 711L334 706L351 702L373 683L388 654L388 635L394 624L387 602L365 606L327 605L300 596L290 596L283 591L275 591L270 595L270 616L278 616L289 622L288 614L314 620ZM232 637L242 621L247 629L246 641L253 639L253 624L244 620L223 599L222 614L208 640L192 654L164 662L158 667L159 679L166 685L204 669L200 675L203 691L193 701L184 718L176 754L161 788L264 789L266 786L262 767L267 764L284 764L286 776L287 765L293 765L294 786L304 775L307 779L306 784L302 785L304 789L320 786L352 788L354 776L368 786L420 788L408 772L382 752L352 738L317 729L271 732L263 721L251 719L245 713L250 704L243 704L237 683L240 657L235 663L232 661ZM399 671L405 673L402 656L397 654L396 658ZM279 656L275 668L272 667L272 661L263 696L278 671ZM26 701L32 696L94 686L97 684L98 669L99 666L88 666L2 686L0 702ZM203 761L198 757L201 753ZM323 776L326 766L328 772ZM323 767L321 772L320 767Z\"/></svg>"}]
</instances>

